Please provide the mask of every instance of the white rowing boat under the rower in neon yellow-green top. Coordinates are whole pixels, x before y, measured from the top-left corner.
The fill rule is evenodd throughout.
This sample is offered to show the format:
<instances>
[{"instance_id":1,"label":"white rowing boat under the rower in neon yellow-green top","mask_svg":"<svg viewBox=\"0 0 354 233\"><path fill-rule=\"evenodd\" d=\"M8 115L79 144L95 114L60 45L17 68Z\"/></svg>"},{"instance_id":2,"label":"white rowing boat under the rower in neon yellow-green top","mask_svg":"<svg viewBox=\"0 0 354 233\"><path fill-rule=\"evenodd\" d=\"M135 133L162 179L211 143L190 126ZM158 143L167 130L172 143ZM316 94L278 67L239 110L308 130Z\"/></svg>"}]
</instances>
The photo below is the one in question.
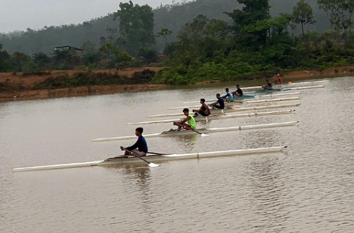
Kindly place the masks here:
<instances>
[{"instance_id":1,"label":"white rowing boat under the rower in neon yellow-green top","mask_svg":"<svg viewBox=\"0 0 354 233\"><path fill-rule=\"evenodd\" d=\"M265 129L265 128L275 128L275 127L283 127L283 126L295 126L299 121L288 121L288 122L280 122L280 123L270 123L270 124L255 124L249 126L232 126L232 127L225 127L225 128L208 128L208 129L195 129L200 133L218 133L218 132L225 132L225 131L241 131L247 129ZM157 137L164 137L164 136L183 136L183 135L190 135L195 134L194 131L181 129L178 131L177 129L163 131L161 133L151 133L145 134L144 138L157 138ZM91 142L103 142L103 141L118 141L118 140L127 140L127 139L135 139L136 136L121 136L121 137L111 137L111 138L93 138Z\"/></svg>"}]
</instances>

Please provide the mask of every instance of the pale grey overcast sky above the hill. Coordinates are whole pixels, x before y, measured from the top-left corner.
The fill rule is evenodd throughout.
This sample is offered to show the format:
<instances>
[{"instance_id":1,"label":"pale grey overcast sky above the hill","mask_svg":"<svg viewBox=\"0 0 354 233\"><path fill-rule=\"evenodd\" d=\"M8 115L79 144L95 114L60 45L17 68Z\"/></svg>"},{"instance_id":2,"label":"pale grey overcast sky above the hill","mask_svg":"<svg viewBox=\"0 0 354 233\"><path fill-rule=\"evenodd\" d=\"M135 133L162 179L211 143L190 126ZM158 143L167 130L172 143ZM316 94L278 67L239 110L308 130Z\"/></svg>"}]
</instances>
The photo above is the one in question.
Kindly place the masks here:
<instances>
[{"instance_id":1,"label":"pale grey overcast sky above the hill","mask_svg":"<svg viewBox=\"0 0 354 233\"><path fill-rule=\"evenodd\" d=\"M0 32L27 28L38 30L45 26L84 23L117 11L120 2L129 0L0 0ZM178 3L181 0L134 0L140 6L152 8Z\"/></svg>"}]
</instances>

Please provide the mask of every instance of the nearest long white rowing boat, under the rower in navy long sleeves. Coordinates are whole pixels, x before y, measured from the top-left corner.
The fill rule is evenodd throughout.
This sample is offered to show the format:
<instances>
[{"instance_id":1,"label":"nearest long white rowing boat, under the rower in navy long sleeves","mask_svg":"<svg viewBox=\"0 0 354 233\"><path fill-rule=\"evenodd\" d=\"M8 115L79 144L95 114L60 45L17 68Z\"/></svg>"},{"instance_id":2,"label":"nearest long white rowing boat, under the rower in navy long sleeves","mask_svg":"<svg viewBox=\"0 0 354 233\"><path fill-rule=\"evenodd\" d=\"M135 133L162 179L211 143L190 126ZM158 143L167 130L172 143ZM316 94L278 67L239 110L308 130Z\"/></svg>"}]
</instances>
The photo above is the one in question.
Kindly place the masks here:
<instances>
[{"instance_id":1,"label":"nearest long white rowing boat, under the rower in navy long sleeves","mask_svg":"<svg viewBox=\"0 0 354 233\"><path fill-rule=\"evenodd\" d=\"M270 148L253 148L245 150L219 150L212 152L201 152L201 153L186 153L186 154L171 154L171 155L149 155L144 158L149 161L168 161L168 160L183 160L183 159L200 159L202 157L221 157L221 156L232 156L232 155L255 155L263 153L280 153L282 150L287 148L287 146L275 146ZM135 164L140 163L137 157L114 157L108 158L107 160L98 160L92 162L74 162L62 165L45 165L36 167L18 167L13 168L13 172L24 172L24 171L35 171L35 170L46 170L46 169L61 169L70 167L92 167L92 166L107 166L107 165L120 165L120 164Z\"/></svg>"}]
</instances>

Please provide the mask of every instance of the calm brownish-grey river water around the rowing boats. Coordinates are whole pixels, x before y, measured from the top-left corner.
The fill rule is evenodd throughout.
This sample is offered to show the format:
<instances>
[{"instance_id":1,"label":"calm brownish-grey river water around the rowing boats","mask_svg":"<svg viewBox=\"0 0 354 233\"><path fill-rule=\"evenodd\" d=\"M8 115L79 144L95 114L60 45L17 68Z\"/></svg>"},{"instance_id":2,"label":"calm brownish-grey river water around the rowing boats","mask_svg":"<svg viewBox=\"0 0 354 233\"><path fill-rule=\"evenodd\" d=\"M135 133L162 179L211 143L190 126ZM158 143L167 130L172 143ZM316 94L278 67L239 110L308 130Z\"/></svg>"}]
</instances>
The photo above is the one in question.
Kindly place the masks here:
<instances>
[{"instance_id":1,"label":"calm brownish-grey river water around the rowing boats","mask_svg":"<svg viewBox=\"0 0 354 233\"><path fill-rule=\"evenodd\" d=\"M323 85L302 90L292 114L207 124L299 121L296 126L147 139L149 150L159 153L287 145L285 153L160 167L12 172L121 155L119 146L135 140L91 139L132 136L137 126L127 123L175 113L166 109L212 98L224 86L2 102L0 232L354 232L354 78ZM144 133L173 128L143 127Z\"/></svg>"}]
</instances>

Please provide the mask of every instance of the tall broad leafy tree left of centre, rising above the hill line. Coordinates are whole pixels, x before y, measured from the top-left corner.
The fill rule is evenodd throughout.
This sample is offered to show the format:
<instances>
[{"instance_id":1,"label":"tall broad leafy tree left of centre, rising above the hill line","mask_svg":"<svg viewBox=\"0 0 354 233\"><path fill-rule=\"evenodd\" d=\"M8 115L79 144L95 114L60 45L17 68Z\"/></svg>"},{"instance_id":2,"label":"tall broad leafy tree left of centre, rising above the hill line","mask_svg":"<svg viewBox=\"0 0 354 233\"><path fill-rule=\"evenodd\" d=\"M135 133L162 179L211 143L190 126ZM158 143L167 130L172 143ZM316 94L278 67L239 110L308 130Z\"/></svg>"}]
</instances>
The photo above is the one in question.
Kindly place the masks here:
<instances>
[{"instance_id":1,"label":"tall broad leafy tree left of centre, rising above the hill line","mask_svg":"<svg viewBox=\"0 0 354 233\"><path fill-rule=\"evenodd\" d=\"M155 45L154 13L148 5L139 6L120 3L120 10L114 13L113 20L119 19L118 44L130 54L137 55L140 49Z\"/></svg>"}]
</instances>

